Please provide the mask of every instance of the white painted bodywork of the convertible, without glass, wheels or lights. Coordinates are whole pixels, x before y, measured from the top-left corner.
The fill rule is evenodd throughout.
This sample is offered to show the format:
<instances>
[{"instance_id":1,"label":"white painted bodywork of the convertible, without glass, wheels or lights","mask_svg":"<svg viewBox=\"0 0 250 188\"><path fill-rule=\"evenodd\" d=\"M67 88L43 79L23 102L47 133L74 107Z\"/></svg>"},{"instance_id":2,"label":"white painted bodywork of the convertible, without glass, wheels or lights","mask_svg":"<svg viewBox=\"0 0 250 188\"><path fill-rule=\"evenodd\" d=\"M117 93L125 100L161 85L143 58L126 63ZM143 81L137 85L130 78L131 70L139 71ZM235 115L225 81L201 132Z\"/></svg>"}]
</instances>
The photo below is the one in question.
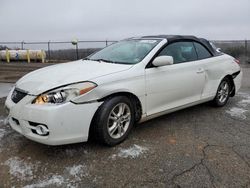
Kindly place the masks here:
<instances>
[{"instance_id":1,"label":"white painted bodywork of the convertible, without glass, wheels or lights","mask_svg":"<svg viewBox=\"0 0 250 188\"><path fill-rule=\"evenodd\" d=\"M141 122L213 99L221 80L226 75L240 71L229 55L182 64L146 68L155 53L167 43L166 39L135 65L112 64L79 60L46 67L21 78L16 87L29 93L17 104L9 93L6 106L9 109L11 127L27 138L48 144L61 145L88 140L92 118L102 104L99 99L119 92L135 95L142 107ZM235 79L236 92L241 85L242 73ZM63 104L32 104L37 95L53 88L91 81L98 86L90 92ZM18 119L17 125L12 118ZM32 133L29 122L45 124L48 136Z\"/></svg>"}]
</instances>

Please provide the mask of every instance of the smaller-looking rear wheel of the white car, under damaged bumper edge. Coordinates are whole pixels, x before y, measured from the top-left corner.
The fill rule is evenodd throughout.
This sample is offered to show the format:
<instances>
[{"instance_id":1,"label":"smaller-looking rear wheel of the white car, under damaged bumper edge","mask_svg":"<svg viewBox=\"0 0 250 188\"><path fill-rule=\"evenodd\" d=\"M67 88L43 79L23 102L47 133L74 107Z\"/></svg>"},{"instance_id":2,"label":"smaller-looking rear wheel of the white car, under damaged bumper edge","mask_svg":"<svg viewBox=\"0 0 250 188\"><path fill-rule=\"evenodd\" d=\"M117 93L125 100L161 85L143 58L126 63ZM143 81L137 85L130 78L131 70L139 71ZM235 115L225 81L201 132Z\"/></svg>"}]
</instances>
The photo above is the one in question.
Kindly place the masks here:
<instances>
[{"instance_id":1,"label":"smaller-looking rear wheel of the white car, under damaged bumper edge","mask_svg":"<svg viewBox=\"0 0 250 188\"><path fill-rule=\"evenodd\" d=\"M230 91L231 91L231 82L230 80L226 77L224 78L218 89L215 98L213 99L212 103L216 107L222 107L227 104L227 101L230 97Z\"/></svg>"}]
</instances>

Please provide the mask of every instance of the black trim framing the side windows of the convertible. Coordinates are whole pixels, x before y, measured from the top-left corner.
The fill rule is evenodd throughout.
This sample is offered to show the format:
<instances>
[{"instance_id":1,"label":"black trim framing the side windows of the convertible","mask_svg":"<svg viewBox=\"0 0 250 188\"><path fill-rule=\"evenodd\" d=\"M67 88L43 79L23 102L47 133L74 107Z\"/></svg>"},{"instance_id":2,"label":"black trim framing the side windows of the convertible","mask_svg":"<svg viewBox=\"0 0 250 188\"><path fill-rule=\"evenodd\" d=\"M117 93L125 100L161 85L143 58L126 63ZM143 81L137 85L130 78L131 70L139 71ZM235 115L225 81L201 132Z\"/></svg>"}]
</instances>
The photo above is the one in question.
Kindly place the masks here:
<instances>
[{"instance_id":1,"label":"black trim framing the side windows of the convertible","mask_svg":"<svg viewBox=\"0 0 250 188\"><path fill-rule=\"evenodd\" d=\"M209 58L212 58L212 57L215 57L215 55L205 46L203 45L201 42L199 41L196 41L196 40L192 40L192 39L179 39L179 40L175 40L175 41L171 41L171 42L167 42L166 44L164 44L156 53L155 55L150 59L150 61L148 62L148 64L146 65L146 69L148 68L155 68L155 66L152 64L153 60L161 53L161 51L166 48L168 45L170 44L173 44L173 43L177 43L177 42L192 42L193 46L194 46L194 49L195 49L195 52L196 52L196 56L197 56L197 60L196 61L200 61L200 60L203 60L203 59L198 59L198 53L197 53L197 50L196 50L196 47L194 45L194 42L196 43L199 43L200 45L202 45L210 54L211 54L211 57L208 57L208 58L204 58L204 59L209 59ZM188 63L188 62L191 62L191 61L184 61L182 63ZM181 64L181 63L178 63L178 64ZM177 65L177 64L176 64Z\"/></svg>"}]
</instances>

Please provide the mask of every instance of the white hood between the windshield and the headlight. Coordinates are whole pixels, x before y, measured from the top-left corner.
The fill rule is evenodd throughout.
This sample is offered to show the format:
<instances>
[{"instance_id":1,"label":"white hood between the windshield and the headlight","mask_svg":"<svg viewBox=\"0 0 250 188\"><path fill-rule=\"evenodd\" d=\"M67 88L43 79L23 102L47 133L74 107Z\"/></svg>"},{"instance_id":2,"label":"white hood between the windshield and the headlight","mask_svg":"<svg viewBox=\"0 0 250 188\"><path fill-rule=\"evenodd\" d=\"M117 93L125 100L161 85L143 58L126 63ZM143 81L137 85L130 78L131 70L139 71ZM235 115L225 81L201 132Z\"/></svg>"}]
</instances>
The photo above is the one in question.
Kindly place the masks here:
<instances>
[{"instance_id":1,"label":"white hood between the windshield and the headlight","mask_svg":"<svg viewBox=\"0 0 250 188\"><path fill-rule=\"evenodd\" d=\"M18 80L16 87L31 95L39 95L59 86L91 81L101 76L128 70L131 67L132 65L78 60L33 71Z\"/></svg>"}]
</instances>

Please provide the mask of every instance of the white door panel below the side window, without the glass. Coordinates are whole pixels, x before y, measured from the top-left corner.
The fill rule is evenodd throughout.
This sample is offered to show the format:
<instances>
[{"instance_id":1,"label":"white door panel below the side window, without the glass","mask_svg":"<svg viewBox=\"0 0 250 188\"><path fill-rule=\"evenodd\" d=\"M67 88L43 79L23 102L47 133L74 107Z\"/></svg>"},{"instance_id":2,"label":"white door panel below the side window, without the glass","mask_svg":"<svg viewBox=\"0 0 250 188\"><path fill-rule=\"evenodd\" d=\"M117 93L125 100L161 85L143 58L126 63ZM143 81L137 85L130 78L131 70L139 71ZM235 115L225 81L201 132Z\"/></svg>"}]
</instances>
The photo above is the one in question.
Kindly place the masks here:
<instances>
[{"instance_id":1,"label":"white door panel below the side window, without the glass","mask_svg":"<svg viewBox=\"0 0 250 188\"><path fill-rule=\"evenodd\" d=\"M205 74L198 70L193 62L146 69L147 115L200 100Z\"/></svg>"}]
</instances>

